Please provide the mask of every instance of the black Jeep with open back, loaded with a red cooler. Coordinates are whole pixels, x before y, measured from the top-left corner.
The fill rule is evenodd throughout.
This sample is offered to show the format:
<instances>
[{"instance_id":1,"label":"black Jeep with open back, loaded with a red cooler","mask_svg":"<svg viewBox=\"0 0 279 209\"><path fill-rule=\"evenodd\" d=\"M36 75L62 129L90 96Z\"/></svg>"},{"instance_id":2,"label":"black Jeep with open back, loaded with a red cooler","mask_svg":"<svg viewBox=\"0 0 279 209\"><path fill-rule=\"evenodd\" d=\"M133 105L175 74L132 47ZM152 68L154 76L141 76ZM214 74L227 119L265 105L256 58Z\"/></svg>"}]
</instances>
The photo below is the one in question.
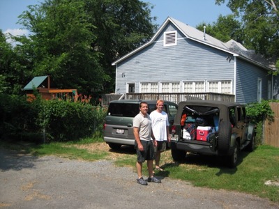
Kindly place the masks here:
<instances>
[{"instance_id":1,"label":"black Jeep with open back, loaded with a red cooler","mask_svg":"<svg viewBox=\"0 0 279 209\"><path fill-rule=\"evenodd\" d=\"M245 106L235 102L180 102L171 134L174 160L183 160L186 152L220 155L236 167L239 150L255 148L255 125L248 121Z\"/></svg>"}]
</instances>

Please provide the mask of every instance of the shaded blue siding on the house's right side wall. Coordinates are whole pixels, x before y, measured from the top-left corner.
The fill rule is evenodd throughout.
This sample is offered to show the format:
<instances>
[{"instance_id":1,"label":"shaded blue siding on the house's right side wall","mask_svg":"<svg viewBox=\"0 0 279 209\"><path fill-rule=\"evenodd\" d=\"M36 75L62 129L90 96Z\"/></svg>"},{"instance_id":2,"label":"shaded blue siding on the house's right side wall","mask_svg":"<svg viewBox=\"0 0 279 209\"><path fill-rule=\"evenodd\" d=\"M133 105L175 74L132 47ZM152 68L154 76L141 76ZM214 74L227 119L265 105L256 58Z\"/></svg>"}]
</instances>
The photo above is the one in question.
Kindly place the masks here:
<instances>
[{"instance_id":1,"label":"shaded blue siding on the house's right side wall","mask_svg":"<svg viewBox=\"0 0 279 209\"><path fill-rule=\"evenodd\" d=\"M262 99L268 99L268 80L271 75L266 70L241 59L236 60L236 102L257 102L257 80L262 79Z\"/></svg>"}]
</instances>

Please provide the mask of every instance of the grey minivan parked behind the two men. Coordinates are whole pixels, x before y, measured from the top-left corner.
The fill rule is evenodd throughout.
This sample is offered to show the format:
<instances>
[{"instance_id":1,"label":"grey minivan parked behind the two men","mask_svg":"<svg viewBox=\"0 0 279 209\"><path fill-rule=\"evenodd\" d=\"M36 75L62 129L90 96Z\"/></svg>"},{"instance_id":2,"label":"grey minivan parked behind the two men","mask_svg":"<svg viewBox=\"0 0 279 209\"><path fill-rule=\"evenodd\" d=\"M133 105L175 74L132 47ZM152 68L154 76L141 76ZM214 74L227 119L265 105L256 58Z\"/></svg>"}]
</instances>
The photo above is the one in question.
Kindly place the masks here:
<instances>
[{"instance_id":1,"label":"grey minivan parked behind the two men","mask_svg":"<svg viewBox=\"0 0 279 209\"><path fill-rule=\"evenodd\" d=\"M114 100L110 102L105 117L104 141L112 149L121 145L134 145L133 118L140 113L140 102L149 104L149 114L156 109L157 100ZM178 105L174 102L164 101L164 109L169 118L169 127L174 123Z\"/></svg>"}]
</instances>

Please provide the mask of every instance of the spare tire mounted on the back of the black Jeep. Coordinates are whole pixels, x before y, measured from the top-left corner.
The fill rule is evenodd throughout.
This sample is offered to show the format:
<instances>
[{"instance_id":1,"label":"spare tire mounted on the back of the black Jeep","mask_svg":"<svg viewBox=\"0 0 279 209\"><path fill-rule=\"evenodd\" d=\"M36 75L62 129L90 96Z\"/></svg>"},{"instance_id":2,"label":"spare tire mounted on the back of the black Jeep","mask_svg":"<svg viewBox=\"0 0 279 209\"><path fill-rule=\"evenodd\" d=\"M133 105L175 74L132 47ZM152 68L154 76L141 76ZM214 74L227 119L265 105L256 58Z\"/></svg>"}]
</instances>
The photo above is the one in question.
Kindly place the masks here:
<instances>
[{"instance_id":1,"label":"spare tire mounted on the back of the black Jeep","mask_svg":"<svg viewBox=\"0 0 279 209\"><path fill-rule=\"evenodd\" d=\"M229 142L232 136L232 123L222 121L219 127L218 150L221 152L229 150Z\"/></svg>"}]
</instances>

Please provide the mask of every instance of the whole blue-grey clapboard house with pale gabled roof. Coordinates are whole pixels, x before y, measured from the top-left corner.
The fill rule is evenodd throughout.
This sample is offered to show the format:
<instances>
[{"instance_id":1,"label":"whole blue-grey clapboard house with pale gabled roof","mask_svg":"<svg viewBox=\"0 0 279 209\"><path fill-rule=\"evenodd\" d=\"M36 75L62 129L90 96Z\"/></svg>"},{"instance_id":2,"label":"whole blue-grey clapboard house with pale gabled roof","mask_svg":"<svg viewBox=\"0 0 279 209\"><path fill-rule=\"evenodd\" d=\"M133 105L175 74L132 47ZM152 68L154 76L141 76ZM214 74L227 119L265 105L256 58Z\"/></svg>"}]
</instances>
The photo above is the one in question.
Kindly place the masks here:
<instances>
[{"instance_id":1,"label":"whole blue-grey clapboard house with pale gabled roof","mask_svg":"<svg viewBox=\"0 0 279 209\"><path fill-rule=\"evenodd\" d=\"M176 45L172 42L172 45L164 46L164 33L172 31L176 31ZM168 33L167 40L174 40L173 35ZM236 102L249 103L257 102L257 85L260 78L261 98L279 98L279 77L272 80L268 74L269 68L259 65L260 59L257 62L253 61L254 55L239 42L221 42L168 17L149 42L112 63L116 65L115 93L128 93L128 84L135 84L135 93L140 93L140 84L144 82L157 83L158 93L162 92L160 84L163 82L170 85L172 82L179 82L181 93L185 92L184 82L199 82L199 85L204 82L204 92L209 92L208 85L211 82L211 91L220 93L222 89L223 92L228 92L227 85L230 84L230 93L235 95ZM274 87L269 86L269 81L273 81ZM191 85L188 85L188 90L203 90ZM177 85L174 86L175 88L171 88L169 92L178 91ZM269 88L274 88L273 95L269 94ZM148 88L144 89L149 91ZM164 88L164 92L166 91ZM154 93L154 90L151 92Z\"/></svg>"}]
</instances>

